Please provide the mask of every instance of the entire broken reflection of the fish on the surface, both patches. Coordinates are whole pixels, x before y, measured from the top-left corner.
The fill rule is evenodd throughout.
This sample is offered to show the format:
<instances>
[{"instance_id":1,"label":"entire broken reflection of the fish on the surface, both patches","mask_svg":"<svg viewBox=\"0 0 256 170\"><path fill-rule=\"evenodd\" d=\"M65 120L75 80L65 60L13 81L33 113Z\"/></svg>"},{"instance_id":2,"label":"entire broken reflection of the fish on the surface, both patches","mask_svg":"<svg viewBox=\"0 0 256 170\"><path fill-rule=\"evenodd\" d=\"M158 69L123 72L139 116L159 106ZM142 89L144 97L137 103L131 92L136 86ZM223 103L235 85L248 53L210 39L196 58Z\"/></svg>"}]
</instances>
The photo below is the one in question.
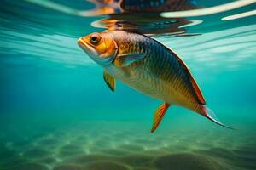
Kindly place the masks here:
<instances>
[{"instance_id":1,"label":"entire broken reflection of the fish on the surface, both patches","mask_svg":"<svg viewBox=\"0 0 256 170\"><path fill-rule=\"evenodd\" d=\"M94 26L107 27L109 30L136 31L143 34L172 33L182 35L185 28L191 23L183 18L166 19L160 17L160 12L177 11L198 8L191 1L93 1L96 10L92 13L108 14L108 19L96 21ZM102 9L101 9L102 8ZM106 8L112 8L106 10ZM111 13L106 13L112 11ZM136 20L135 20L136 19ZM189 34L188 34L189 35ZM190 36L193 36L191 34Z\"/></svg>"}]
</instances>

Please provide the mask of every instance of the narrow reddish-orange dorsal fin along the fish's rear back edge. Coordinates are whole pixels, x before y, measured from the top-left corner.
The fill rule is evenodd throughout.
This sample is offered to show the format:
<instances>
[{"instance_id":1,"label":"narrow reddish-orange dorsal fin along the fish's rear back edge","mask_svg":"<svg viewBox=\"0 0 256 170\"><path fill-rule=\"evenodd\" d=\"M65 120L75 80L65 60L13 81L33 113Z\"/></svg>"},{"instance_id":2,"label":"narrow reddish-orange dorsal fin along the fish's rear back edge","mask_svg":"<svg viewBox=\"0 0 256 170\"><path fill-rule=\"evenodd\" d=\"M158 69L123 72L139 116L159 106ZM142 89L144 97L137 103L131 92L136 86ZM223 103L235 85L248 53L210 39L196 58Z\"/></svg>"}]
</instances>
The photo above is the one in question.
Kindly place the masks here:
<instances>
[{"instance_id":1,"label":"narrow reddish-orange dorsal fin along the fish's rear back edge","mask_svg":"<svg viewBox=\"0 0 256 170\"><path fill-rule=\"evenodd\" d=\"M167 47L166 47L166 48L167 48ZM191 75L191 73L190 73L190 71L189 71L189 67L183 62L182 59L180 59L180 58L178 57L178 55L177 55L176 53L174 53L174 52L172 51L171 48L168 48L168 49L170 50L170 52L171 52L172 54L174 54L174 56L176 57L176 59L177 59L177 61L179 62L179 64L183 65L183 68L184 68L184 70L187 72L187 74L188 74L188 76L189 76L189 80L190 80L190 82L191 82L191 84L192 84L192 87L193 87L194 90L195 90L195 94L196 94L196 96L197 96L199 102L201 103L201 105L206 105L206 100L205 100L205 98L203 97L203 95L201 94L201 89L199 88L199 86L198 86L197 83L195 82L194 77Z\"/></svg>"}]
</instances>

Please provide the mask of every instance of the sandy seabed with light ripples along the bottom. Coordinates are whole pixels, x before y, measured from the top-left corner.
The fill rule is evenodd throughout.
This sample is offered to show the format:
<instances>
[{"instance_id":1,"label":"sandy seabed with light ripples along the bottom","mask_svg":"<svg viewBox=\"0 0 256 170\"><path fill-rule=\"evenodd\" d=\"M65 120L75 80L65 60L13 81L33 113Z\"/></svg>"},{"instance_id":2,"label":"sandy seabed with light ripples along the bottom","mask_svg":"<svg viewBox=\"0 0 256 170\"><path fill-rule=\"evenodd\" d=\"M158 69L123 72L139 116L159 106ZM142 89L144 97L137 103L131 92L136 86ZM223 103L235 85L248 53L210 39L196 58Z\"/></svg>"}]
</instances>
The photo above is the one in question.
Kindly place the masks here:
<instances>
[{"instance_id":1,"label":"sandy seabed with light ripples along the bottom","mask_svg":"<svg viewBox=\"0 0 256 170\"><path fill-rule=\"evenodd\" d=\"M82 122L48 133L42 130L37 138L2 143L0 169L256 169L255 136L192 129L151 134L139 126L136 122Z\"/></svg>"}]
</instances>

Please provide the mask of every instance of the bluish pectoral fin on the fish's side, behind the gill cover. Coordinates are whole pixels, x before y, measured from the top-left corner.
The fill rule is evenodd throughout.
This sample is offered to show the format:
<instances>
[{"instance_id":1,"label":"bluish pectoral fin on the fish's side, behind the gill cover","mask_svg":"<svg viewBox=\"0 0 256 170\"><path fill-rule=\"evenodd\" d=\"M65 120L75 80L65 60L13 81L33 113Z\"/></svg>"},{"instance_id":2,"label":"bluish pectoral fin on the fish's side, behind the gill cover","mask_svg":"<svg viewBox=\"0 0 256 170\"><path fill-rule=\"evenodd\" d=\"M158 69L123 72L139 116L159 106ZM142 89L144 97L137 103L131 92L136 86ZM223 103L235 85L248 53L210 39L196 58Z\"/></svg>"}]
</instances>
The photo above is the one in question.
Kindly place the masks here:
<instances>
[{"instance_id":1,"label":"bluish pectoral fin on the fish's side, behind the gill cover","mask_svg":"<svg viewBox=\"0 0 256 170\"><path fill-rule=\"evenodd\" d=\"M131 65L132 63L143 59L144 57L145 54L119 54L114 59L114 65L117 65L119 67Z\"/></svg>"}]
</instances>

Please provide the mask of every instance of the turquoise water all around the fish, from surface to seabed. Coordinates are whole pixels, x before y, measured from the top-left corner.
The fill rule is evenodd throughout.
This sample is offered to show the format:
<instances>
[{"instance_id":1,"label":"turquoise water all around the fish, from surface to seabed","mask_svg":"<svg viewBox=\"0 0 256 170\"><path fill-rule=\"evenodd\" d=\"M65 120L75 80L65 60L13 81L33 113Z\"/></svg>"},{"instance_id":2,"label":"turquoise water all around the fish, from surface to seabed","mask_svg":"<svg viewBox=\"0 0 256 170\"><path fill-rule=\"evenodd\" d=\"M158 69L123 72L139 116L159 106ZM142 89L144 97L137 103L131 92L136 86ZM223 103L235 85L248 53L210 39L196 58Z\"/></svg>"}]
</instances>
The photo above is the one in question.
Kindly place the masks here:
<instances>
[{"instance_id":1,"label":"turquoise water all around the fish, from surface to seabed","mask_svg":"<svg viewBox=\"0 0 256 170\"><path fill-rule=\"evenodd\" d=\"M256 169L255 1L97 2L2 1L0 169ZM161 101L121 82L112 93L77 45L106 27L176 51L238 130L172 106L150 133Z\"/></svg>"}]
</instances>

